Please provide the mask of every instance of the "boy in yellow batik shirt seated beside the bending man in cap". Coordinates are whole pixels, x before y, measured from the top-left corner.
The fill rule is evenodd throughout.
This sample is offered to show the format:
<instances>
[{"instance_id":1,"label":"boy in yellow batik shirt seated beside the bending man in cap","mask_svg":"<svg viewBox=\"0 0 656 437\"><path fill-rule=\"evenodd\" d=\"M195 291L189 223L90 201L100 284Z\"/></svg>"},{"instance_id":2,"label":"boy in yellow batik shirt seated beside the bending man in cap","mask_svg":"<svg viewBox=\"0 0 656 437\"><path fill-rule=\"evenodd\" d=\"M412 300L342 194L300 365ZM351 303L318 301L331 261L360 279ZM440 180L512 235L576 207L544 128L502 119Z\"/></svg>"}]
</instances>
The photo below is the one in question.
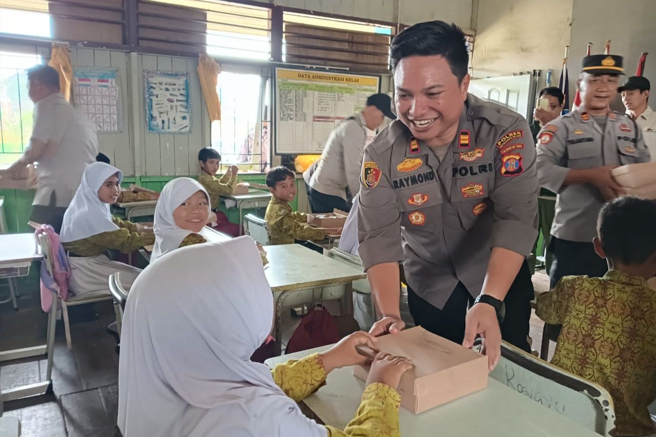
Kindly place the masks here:
<instances>
[{"instance_id":1,"label":"boy in yellow batik shirt seated beside the bending man in cap","mask_svg":"<svg viewBox=\"0 0 656 437\"><path fill-rule=\"evenodd\" d=\"M295 239L323 239L326 234L338 234L341 229L313 228L303 223L308 217L292 211L289 202L296 198L293 171L275 167L266 174L266 186L272 194L264 220L269 226L271 244L293 244Z\"/></svg>"}]
</instances>

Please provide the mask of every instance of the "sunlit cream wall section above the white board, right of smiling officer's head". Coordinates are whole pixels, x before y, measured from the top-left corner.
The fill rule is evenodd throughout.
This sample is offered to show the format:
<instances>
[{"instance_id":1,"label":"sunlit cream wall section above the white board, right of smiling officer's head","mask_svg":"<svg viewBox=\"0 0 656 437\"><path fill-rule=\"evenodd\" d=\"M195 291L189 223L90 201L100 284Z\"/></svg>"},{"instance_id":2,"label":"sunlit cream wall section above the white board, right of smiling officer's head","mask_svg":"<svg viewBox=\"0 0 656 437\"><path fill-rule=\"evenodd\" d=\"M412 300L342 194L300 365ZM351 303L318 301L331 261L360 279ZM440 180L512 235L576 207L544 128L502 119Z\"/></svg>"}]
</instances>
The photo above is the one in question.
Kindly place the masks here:
<instances>
[{"instance_id":1,"label":"sunlit cream wall section above the white board, right of smiling officer's head","mask_svg":"<svg viewBox=\"0 0 656 437\"><path fill-rule=\"evenodd\" d=\"M480 0L474 77L552 69L557 82L569 43L572 1Z\"/></svg>"}]
</instances>

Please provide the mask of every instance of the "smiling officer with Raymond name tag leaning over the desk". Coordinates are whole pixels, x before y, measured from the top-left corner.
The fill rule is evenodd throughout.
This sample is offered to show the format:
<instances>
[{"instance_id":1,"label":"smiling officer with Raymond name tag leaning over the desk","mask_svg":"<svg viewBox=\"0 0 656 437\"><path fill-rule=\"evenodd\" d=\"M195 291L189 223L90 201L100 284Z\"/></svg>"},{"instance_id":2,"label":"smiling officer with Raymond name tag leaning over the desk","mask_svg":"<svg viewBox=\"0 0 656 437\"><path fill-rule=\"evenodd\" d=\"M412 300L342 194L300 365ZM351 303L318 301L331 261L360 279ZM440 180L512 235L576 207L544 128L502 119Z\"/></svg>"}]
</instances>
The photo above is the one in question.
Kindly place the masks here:
<instances>
[{"instance_id":1,"label":"smiling officer with Raymond name tag leaning over the desk","mask_svg":"<svg viewBox=\"0 0 656 437\"><path fill-rule=\"evenodd\" d=\"M391 59L400 119L365 149L358 205L359 255L382 317L371 333L404 327L403 262L415 323L467 347L482 334L492 367L501 337L529 349L531 131L515 112L467 93L468 50L455 24L402 31Z\"/></svg>"}]
</instances>

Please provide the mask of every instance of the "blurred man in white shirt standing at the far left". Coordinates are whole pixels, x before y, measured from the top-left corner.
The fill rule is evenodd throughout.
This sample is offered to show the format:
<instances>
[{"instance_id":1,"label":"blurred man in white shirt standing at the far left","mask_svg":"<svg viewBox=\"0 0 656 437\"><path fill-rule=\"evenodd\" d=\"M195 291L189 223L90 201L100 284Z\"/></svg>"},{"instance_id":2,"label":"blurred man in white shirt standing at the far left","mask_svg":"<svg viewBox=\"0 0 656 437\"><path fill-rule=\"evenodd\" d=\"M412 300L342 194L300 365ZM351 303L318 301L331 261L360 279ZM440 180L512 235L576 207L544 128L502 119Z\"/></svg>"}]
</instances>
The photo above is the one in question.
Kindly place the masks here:
<instances>
[{"instance_id":1,"label":"blurred man in white shirt standing at the far left","mask_svg":"<svg viewBox=\"0 0 656 437\"><path fill-rule=\"evenodd\" d=\"M76 112L59 92L59 75L54 68L30 68L28 87L35 103L30 144L7 170L16 178L26 165L37 163L39 186L30 220L50 224L59 232L84 169L96 160L98 138L91 121Z\"/></svg>"}]
</instances>

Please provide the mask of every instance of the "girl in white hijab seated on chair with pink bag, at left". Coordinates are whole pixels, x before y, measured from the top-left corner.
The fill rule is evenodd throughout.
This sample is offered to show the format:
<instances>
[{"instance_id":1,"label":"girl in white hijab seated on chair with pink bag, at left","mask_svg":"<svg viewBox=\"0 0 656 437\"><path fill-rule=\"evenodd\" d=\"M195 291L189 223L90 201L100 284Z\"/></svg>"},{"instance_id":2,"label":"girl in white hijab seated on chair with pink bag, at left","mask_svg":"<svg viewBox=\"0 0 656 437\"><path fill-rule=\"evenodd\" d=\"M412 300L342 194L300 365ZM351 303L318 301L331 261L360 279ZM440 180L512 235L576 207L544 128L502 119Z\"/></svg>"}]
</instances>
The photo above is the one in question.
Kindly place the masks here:
<instances>
[{"instance_id":1,"label":"girl in white hijab seated on chair with pink bag, at left","mask_svg":"<svg viewBox=\"0 0 656 437\"><path fill-rule=\"evenodd\" d=\"M96 162L89 165L64 214L60 241L68 252L71 266L69 289L75 295L110 293L110 274L121 273L123 287L129 289L141 272L122 262L110 260L104 252L117 249L130 253L150 245L155 236L141 225L112 217L110 205L121 192L123 173L112 165Z\"/></svg>"}]
</instances>

